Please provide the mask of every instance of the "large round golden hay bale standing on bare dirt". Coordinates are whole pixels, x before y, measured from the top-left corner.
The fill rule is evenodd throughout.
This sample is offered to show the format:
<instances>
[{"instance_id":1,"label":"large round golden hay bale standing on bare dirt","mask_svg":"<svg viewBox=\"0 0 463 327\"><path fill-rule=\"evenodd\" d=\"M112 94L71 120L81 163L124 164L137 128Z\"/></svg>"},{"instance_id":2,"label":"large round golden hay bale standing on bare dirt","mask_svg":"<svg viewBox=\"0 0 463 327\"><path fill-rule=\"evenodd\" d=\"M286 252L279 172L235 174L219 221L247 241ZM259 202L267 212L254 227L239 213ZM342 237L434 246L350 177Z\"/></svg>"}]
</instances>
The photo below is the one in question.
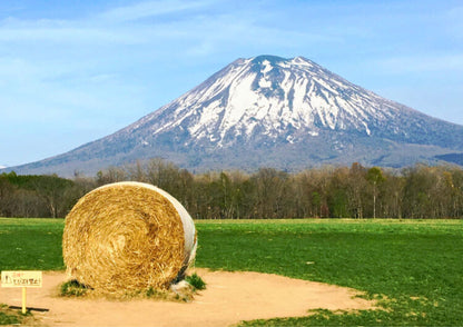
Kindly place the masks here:
<instances>
[{"instance_id":1,"label":"large round golden hay bale standing on bare dirt","mask_svg":"<svg viewBox=\"0 0 463 327\"><path fill-rule=\"evenodd\" d=\"M69 277L102 293L166 289L196 255L191 217L169 194L116 182L83 196L66 217Z\"/></svg>"}]
</instances>

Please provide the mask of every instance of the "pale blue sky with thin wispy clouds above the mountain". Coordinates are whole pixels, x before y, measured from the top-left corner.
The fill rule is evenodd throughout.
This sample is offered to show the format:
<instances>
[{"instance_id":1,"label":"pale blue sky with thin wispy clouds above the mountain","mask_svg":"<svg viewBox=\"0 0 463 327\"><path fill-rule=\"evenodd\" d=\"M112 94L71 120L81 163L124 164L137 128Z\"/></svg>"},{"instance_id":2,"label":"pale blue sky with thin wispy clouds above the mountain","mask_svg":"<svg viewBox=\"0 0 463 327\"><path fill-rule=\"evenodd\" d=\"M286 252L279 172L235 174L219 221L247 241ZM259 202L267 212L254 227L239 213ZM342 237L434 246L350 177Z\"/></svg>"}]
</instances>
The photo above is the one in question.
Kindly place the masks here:
<instances>
[{"instance_id":1,"label":"pale blue sky with thin wispy clouds above the mountain","mask_svg":"<svg viewBox=\"0 0 463 327\"><path fill-rule=\"evenodd\" d=\"M258 54L463 125L461 0L3 0L0 165L112 133Z\"/></svg>"}]
</instances>

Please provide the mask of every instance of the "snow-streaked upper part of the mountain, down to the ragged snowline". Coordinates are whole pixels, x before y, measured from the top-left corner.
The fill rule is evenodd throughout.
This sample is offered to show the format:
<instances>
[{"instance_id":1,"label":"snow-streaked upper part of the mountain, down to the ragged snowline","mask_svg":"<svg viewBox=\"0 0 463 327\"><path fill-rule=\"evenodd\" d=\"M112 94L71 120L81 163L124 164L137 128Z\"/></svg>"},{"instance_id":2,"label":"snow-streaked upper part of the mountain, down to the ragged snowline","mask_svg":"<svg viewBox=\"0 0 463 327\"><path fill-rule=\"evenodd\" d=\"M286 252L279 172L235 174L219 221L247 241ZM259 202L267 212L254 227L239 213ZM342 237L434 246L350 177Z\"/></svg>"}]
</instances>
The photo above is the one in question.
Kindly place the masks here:
<instances>
[{"instance_id":1,"label":"snow-streaked upper part of the mountain, down to the ragged snowline","mask_svg":"<svg viewBox=\"0 0 463 327\"><path fill-rule=\"evenodd\" d=\"M370 136L377 126L398 135L404 131L394 118L410 111L308 59L260 56L236 60L128 132L148 127L157 135L181 127L190 136L188 142L206 140L218 147L230 146L238 136L249 140L254 132L273 139L286 136L292 142L321 130ZM288 128L294 130L290 136Z\"/></svg>"}]
</instances>

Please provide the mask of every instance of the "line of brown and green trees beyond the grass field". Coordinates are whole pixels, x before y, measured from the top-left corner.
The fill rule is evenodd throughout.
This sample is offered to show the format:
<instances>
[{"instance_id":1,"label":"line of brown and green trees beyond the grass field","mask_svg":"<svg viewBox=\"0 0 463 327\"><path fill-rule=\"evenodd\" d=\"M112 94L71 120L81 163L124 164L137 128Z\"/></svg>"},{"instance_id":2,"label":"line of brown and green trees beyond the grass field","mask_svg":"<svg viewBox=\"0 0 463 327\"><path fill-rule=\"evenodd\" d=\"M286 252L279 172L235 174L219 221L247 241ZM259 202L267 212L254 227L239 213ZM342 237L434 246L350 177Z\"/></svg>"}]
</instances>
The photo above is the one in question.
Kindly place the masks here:
<instances>
[{"instance_id":1,"label":"line of brown and green trees beyond the grass field","mask_svg":"<svg viewBox=\"0 0 463 327\"><path fill-rule=\"evenodd\" d=\"M417 165L324 167L301 172L194 175L152 159L111 167L93 178L0 175L1 217L65 217L88 191L115 181L152 184L176 197L196 219L244 218L462 218L463 170Z\"/></svg>"}]
</instances>

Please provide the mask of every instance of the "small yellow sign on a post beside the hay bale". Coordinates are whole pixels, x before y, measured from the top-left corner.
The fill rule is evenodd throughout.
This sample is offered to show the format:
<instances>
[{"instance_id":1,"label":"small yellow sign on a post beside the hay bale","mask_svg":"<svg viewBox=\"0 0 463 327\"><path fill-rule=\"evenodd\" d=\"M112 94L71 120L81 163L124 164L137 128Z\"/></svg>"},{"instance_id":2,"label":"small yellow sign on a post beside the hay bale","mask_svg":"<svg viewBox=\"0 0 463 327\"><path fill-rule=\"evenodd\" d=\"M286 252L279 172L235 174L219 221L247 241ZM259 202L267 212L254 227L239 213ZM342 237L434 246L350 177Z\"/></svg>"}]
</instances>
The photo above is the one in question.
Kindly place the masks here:
<instances>
[{"instance_id":1,"label":"small yellow sign on a post beside the hay bale","mask_svg":"<svg viewBox=\"0 0 463 327\"><path fill-rule=\"evenodd\" d=\"M27 288L42 287L42 271L1 271L1 287L22 288L22 314L26 314Z\"/></svg>"}]
</instances>

